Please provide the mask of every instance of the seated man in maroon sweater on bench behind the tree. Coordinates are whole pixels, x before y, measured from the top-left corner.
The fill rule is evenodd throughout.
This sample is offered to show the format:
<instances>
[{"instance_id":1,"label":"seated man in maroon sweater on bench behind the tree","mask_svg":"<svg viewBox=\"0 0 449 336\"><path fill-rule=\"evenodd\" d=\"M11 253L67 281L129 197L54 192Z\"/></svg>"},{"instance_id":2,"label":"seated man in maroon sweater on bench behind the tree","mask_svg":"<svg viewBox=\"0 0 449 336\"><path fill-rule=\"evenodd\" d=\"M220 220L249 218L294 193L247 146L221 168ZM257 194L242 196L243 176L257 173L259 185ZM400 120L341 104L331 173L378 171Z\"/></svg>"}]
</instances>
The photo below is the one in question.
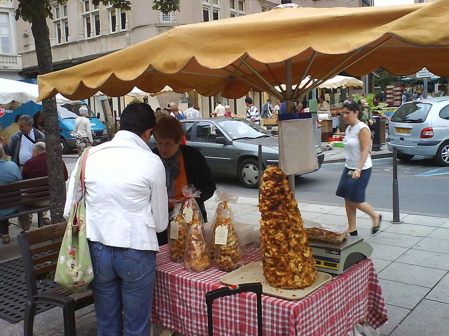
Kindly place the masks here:
<instances>
[{"instance_id":1,"label":"seated man in maroon sweater on bench behind the tree","mask_svg":"<svg viewBox=\"0 0 449 336\"><path fill-rule=\"evenodd\" d=\"M47 169L47 152L45 150L45 142L36 142L33 145L32 148L33 157L25 162L22 169L22 178L24 180L28 180L30 178L38 178L38 177L45 177L49 175L48 169ZM68 179L68 172L67 167L65 166L64 162L63 169L64 169L64 176L65 180ZM37 202L32 203L34 206L38 207L45 207L49 205L48 201L44 202ZM22 227L23 230L29 230L30 228L30 221L33 219L33 215L23 215L19 217L19 224ZM49 211L44 211L44 224L48 225L50 224L50 214Z\"/></svg>"}]
</instances>

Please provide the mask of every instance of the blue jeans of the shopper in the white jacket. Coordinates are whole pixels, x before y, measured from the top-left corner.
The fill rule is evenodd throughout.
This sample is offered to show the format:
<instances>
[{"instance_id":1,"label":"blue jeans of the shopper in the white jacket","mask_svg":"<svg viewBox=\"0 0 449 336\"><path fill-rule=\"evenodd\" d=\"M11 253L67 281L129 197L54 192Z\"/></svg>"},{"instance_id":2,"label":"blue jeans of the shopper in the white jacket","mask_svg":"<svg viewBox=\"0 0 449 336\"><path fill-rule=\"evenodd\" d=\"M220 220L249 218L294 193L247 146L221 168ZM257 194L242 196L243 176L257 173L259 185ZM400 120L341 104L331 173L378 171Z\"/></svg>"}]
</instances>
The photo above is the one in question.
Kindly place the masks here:
<instances>
[{"instance_id":1,"label":"blue jeans of the shopper in the white jacket","mask_svg":"<svg viewBox=\"0 0 449 336\"><path fill-rule=\"evenodd\" d=\"M153 299L155 251L89 242L99 336L147 336ZM123 319L122 319L123 309Z\"/></svg>"}]
</instances>

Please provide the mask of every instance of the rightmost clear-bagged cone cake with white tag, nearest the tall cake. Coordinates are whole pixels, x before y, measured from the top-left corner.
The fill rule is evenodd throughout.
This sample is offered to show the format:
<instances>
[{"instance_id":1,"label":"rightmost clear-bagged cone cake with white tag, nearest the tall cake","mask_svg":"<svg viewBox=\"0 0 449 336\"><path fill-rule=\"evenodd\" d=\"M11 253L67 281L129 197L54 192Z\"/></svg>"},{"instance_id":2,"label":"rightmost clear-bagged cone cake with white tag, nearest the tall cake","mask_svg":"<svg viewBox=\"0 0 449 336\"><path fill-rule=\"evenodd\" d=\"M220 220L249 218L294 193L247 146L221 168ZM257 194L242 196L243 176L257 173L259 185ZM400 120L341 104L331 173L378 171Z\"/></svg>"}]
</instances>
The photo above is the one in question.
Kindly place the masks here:
<instances>
[{"instance_id":1,"label":"rightmost clear-bagged cone cake with white tag, nearest the tall cake","mask_svg":"<svg viewBox=\"0 0 449 336\"><path fill-rule=\"evenodd\" d=\"M217 189L215 201L218 203L212 225L210 239L210 252L214 264L222 271L233 271L243 266L243 249L239 244L235 228L234 213L228 203L236 203L238 196L233 196L223 190Z\"/></svg>"}]
</instances>

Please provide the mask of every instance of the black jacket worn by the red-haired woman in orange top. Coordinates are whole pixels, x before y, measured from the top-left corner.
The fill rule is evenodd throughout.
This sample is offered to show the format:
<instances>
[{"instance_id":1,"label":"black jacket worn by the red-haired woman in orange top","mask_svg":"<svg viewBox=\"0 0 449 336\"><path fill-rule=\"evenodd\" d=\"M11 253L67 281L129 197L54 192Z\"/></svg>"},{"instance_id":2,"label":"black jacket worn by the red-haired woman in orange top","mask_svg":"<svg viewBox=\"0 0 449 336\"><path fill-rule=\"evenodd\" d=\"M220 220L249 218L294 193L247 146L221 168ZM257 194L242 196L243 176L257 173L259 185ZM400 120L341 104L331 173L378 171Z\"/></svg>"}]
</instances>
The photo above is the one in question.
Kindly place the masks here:
<instances>
[{"instance_id":1,"label":"black jacket worn by the red-haired woman in orange top","mask_svg":"<svg viewBox=\"0 0 449 336\"><path fill-rule=\"evenodd\" d=\"M207 213L204 202L212 197L216 189L215 181L213 180L209 166L207 166L206 159L204 159L198 149L186 145L180 145L179 148L184 158L187 183L193 184L197 190L201 191L201 195L196 201L200 206L201 214L206 222ZM157 148L154 148L152 151L160 157Z\"/></svg>"}]
</instances>

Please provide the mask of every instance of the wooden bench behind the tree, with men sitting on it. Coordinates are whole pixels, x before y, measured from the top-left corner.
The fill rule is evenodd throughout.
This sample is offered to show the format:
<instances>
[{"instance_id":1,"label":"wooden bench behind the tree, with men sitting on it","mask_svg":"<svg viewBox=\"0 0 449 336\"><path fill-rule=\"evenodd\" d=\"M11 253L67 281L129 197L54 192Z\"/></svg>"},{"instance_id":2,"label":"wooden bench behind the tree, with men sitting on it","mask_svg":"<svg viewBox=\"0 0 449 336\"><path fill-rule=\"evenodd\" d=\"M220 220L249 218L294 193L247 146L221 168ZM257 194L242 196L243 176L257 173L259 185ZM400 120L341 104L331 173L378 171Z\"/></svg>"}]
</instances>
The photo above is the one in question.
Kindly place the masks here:
<instances>
[{"instance_id":1,"label":"wooden bench behind the tree, with men sitting on it","mask_svg":"<svg viewBox=\"0 0 449 336\"><path fill-rule=\"evenodd\" d=\"M50 188L48 177L38 177L29 180L5 183L0 185L0 209L19 207L19 209L1 219L15 218L29 213L38 214L38 226L44 226L43 211L50 210L49 206L36 206L32 203L50 202ZM50 204L50 203L49 203Z\"/></svg>"}]
</instances>

